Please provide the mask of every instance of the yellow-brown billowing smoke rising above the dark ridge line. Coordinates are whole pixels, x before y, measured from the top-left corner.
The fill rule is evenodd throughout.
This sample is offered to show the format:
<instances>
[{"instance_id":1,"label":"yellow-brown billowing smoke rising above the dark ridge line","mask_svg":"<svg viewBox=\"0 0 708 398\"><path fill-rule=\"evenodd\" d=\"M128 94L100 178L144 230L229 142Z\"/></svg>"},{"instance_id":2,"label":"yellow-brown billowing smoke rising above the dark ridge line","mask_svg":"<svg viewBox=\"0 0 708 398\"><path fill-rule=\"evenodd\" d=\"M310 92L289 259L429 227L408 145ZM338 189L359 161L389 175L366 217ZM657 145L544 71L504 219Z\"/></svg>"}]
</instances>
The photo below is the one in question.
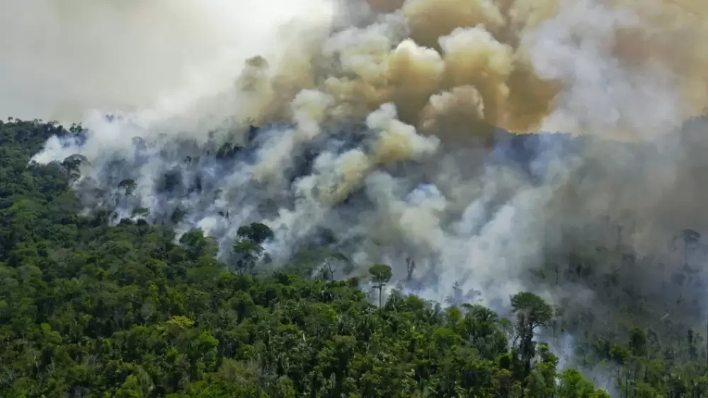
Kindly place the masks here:
<instances>
[{"instance_id":1,"label":"yellow-brown billowing smoke rising above the dark ridge line","mask_svg":"<svg viewBox=\"0 0 708 398\"><path fill-rule=\"evenodd\" d=\"M624 97L670 97L675 111L662 121L667 125L708 105L708 7L697 0L367 3L378 13L368 25L323 37L309 52L293 52L276 70L251 62L243 76L256 81L251 119L290 120L288 103L299 90L312 89L333 98L327 118L363 120L392 103L401 122L445 140L484 141L491 127L595 133L593 119L603 117L610 122L598 125L617 135L613 138L637 139L645 127L639 115L622 109L632 100ZM573 22L583 12L600 15L600 9L607 13L606 23L603 18ZM573 49L597 57L573 64ZM598 59L604 64L594 65ZM612 80L615 71L622 78ZM615 89L622 79L629 83ZM613 97L615 92L621 95ZM597 101L599 116L578 115L593 105L576 104L573 95L581 94ZM569 103L575 108L565 109Z\"/></svg>"}]
</instances>

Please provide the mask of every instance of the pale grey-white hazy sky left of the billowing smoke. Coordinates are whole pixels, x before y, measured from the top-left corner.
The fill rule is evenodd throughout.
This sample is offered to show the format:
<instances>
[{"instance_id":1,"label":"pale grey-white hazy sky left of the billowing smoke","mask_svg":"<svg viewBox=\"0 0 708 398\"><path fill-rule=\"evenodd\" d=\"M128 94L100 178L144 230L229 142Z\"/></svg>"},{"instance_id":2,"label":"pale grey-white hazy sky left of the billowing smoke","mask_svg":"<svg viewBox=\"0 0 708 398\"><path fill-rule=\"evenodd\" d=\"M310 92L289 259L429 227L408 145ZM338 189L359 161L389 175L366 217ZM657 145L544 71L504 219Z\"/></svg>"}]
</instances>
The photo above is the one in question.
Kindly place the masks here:
<instances>
[{"instance_id":1,"label":"pale grey-white hazy sky left of the billowing smoke","mask_svg":"<svg viewBox=\"0 0 708 398\"><path fill-rule=\"evenodd\" d=\"M220 90L287 23L329 27L324 0L27 0L0 5L0 117L76 120Z\"/></svg>"}]
</instances>

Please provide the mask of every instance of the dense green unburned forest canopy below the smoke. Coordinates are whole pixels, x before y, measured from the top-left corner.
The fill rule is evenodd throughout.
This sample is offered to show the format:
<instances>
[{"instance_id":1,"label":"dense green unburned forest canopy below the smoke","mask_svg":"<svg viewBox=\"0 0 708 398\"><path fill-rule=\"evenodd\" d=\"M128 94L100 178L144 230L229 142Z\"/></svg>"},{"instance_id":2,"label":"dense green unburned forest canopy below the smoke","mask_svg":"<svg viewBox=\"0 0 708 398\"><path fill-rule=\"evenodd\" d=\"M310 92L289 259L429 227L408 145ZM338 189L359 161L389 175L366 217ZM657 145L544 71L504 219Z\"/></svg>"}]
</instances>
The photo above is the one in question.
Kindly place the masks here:
<instances>
[{"instance_id":1,"label":"dense green unburned forest canopy below the smoke","mask_svg":"<svg viewBox=\"0 0 708 398\"><path fill-rule=\"evenodd\" d=\"M249 256L233 268L199 230L176 242L173 226L142 221L148 209L115 226L105 211L82 216L72 165L29 163L65 133L0 122L2 397L607 396L595 386L708 396L705 340L692 329L655 332L635 314L632 329L608 337L592 309L570 324L563 308L523 292L509 298L508 320L396 291L379 308L362 282L380 290L384 264L345 281L309 277L298 262L257 269ZM241 231L234 250L258 254L267 227ZM612 315L619 325L631 314ZM563 324L582 336L579 363L608 385L559 369L535 339Z\"/></svg>"}]
</instances>

